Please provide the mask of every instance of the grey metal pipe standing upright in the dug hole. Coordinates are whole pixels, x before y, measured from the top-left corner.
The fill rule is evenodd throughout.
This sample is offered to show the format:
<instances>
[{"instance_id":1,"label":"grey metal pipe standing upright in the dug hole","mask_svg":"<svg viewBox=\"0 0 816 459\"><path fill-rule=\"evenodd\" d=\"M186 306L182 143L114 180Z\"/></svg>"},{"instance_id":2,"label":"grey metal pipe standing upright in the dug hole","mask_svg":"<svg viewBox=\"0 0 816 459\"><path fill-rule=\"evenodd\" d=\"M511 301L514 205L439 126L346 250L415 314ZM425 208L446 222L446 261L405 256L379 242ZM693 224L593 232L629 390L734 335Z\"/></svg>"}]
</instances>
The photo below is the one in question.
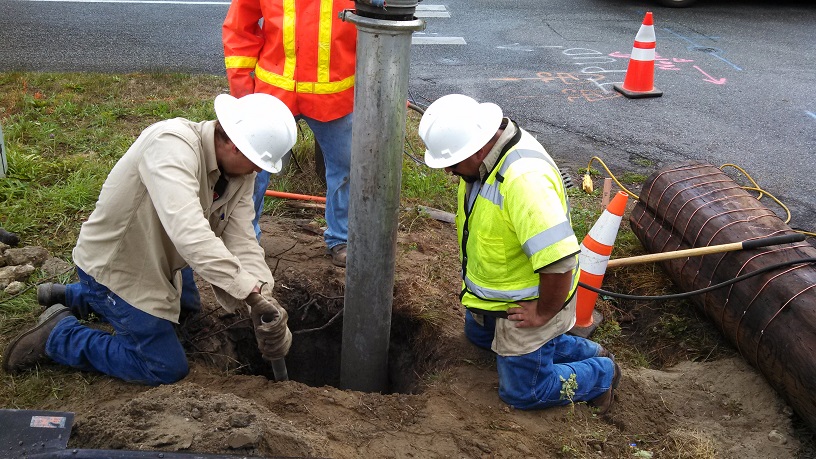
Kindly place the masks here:
<instances>
[{"instance_id":1,"label":"grey metal pipe standing upright in the dug hole","mask_svg":"<svg viewBox=\"0 0 816 459\"><path fill-rule=\"evenodd\" d=\"M418 0L358 0L345 21L357 27L351 141L349 238L340 384L388 389L402 151L411 34Z\"/></svg>"}]
</instances>

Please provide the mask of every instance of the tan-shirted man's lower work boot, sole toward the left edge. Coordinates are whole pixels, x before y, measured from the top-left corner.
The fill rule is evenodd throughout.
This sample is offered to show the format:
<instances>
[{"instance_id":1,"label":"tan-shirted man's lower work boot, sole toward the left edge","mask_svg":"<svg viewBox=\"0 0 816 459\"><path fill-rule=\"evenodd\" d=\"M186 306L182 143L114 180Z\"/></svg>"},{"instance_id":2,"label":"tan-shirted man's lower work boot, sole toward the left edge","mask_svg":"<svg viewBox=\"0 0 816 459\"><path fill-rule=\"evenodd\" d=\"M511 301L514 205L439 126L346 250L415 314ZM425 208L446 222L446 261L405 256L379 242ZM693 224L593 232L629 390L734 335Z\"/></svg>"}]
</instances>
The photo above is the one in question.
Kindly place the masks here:
<instances>
[{"instance_id":1,"label":"tan-shirted man's lower work boot, sole toward the left edge","mask_svg":"<svg viewBox=\"0 0 816 459\"><path fill-rule=\"evenodd\" d=\"M3 370L17 373L46 359L45 343L60 320L71 315L61 304L55 304L40 315L37 325L11 342L3 354Z\"/></svg>"}]
</instances>

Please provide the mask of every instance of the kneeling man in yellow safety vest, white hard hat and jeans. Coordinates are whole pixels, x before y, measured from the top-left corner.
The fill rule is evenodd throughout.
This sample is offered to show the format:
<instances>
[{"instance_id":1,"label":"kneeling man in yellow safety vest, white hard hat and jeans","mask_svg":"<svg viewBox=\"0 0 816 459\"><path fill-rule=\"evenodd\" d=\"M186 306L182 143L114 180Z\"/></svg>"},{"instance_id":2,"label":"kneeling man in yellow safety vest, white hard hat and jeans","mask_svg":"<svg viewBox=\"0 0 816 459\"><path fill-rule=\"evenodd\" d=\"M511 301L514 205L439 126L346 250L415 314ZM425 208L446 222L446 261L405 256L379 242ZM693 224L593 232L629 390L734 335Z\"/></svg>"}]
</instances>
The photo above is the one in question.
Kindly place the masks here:
<instances>
[{"instance_id":1,"label":"kneeling man in yellow safety vest, white hard hat and jeans","mask_svg":"<svg viewBox=\"0 0 816 459\"><path fill-rule=\"evenodd\" d=\"M580 247L555 162L499 106L461 94L432 103L419 136L426 164L461 178L465 334L496 353L499 396L523 410L588 401L606 413L621 371L601 345L567 334Z\"/></svg>"}]
</instances>

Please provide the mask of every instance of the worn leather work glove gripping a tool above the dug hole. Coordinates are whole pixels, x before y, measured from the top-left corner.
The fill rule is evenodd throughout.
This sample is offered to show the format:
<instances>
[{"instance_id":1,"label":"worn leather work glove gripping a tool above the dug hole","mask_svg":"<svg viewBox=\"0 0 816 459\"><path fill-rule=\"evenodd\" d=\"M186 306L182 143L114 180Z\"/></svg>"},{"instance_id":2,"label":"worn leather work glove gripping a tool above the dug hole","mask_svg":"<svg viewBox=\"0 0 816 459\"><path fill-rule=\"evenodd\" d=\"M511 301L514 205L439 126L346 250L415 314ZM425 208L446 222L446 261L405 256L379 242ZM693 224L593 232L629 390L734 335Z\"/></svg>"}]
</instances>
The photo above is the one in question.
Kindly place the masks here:
<instances>
[{"instance_id":1,"label":"worn leather work glove gripping a tool above the dug hole","mask_svg":"<svg viewBox=\"0 0 816 459\"><path fill-rule=\"evenodd\" d=\"M287 327L289 314L274 299L251 293L245 300L255 327L255 339L264 359L272 361L286 357L292 346L292 332Z\"/></svg>"}]
</instances>

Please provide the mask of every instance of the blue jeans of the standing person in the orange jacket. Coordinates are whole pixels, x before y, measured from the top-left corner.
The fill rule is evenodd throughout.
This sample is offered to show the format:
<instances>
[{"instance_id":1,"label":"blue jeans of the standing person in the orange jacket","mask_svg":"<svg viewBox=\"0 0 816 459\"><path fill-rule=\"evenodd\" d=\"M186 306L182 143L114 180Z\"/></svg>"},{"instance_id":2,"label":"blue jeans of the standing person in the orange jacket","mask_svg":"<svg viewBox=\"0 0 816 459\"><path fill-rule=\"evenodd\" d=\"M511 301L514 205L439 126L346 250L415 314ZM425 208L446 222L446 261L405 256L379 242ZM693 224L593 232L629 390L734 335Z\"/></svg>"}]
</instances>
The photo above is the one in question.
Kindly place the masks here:
<instances>
[{"instance_id":1,"label":"blue jeans of the standing person in the orange jacket","mask_svg":"<svg viewBox=\"0 0 816 459\"><path fill-rule=\"evenodd\" d=\"M351 122L352 115L348 114L334 121L317 121L300 115L297 118L306 121L312 130L315 140L323 150L323 159L326 163L326 226L323 240L326 247L332 248L348 241L348 201L349 201L349 172L351 169ZM255 203L255 237L261 240L261 227L258 220L263 212L263 199L269 187L271 174L266 171L258 172L255 176L255 191L252 200Z\"/></svg>"}]
</instances>

